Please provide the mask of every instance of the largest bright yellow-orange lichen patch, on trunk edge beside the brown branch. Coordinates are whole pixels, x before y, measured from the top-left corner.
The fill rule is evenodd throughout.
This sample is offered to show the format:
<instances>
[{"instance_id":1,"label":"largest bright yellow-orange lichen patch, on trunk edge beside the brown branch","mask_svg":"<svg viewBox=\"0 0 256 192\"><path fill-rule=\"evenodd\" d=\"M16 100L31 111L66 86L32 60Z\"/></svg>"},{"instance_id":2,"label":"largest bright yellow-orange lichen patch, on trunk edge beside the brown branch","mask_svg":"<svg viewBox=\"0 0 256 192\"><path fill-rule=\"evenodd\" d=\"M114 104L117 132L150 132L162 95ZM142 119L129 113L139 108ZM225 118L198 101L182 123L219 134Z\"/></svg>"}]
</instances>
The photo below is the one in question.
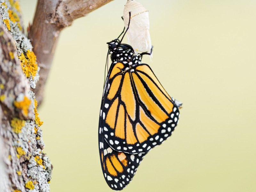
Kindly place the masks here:
<instances>
[{"instance_id":1,"label":"largest bright yellow-orange lichen patch, on trunk edge beside the brown branch","mask_svg":"<svg viewBox=\"0 0 256 192\"><path fill-rule=\"evenodd\" d=\"M25 55L21 53L19 57L22 70L25 73L26 77L32 76L34 78L36 76L38 68L36 63L36 55L33 51L27 50L26 56L28 59L26 59Z\"/></svg>"}]
</instances>

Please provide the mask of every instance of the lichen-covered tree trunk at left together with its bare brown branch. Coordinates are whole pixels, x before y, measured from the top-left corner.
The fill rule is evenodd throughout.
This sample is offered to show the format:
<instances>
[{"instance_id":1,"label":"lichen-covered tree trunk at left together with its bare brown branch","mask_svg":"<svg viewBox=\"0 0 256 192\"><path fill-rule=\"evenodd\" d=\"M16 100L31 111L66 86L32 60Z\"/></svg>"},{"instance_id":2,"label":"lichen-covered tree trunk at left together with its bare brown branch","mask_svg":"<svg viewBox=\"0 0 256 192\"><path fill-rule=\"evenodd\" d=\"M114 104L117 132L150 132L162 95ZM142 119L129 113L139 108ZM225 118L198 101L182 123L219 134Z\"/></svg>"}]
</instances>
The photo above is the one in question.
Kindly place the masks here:
<instances>
[{"instance_id":1,"label":"lichen-covered tree trunk at left together with its bare brown branch","mask_svg":"<svg viewBox=\"0 0 256 192\"><path fill-rule=\"evenodd\" d=\"M36 97L41 103L60 31L110 1L38 0L28 30L32 50L22 28L19 1L0 0L1 192L50 190L52 164L42 152L43 122Z\"/></svg>"}]
</instances>

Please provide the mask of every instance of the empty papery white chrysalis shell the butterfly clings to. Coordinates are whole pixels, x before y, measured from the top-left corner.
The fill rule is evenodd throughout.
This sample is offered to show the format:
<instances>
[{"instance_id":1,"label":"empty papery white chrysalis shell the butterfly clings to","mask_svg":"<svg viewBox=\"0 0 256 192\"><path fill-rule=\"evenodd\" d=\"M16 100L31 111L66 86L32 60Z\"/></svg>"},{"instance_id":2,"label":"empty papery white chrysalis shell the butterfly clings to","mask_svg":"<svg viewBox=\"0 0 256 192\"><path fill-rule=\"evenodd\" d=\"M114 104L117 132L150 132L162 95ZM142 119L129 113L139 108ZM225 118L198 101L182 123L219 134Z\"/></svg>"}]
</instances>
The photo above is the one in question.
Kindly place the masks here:
<instances>
[{"instance_id":1,"label":"empty papery white chrysalis shell the butterfly clings to","mask_svg":"<svg viewBox=\"0 0 256 192\"><path fill-rule=\"evenodd\" d=\"M139 52L150 52L152 45L149 34L148 10L142 4L128 0L124 6L125 28L128 26L129 12L131 12L131 22L127 31L129 44L135 51L135 55L138 55Z\"/></svg>"}]
</instances>

